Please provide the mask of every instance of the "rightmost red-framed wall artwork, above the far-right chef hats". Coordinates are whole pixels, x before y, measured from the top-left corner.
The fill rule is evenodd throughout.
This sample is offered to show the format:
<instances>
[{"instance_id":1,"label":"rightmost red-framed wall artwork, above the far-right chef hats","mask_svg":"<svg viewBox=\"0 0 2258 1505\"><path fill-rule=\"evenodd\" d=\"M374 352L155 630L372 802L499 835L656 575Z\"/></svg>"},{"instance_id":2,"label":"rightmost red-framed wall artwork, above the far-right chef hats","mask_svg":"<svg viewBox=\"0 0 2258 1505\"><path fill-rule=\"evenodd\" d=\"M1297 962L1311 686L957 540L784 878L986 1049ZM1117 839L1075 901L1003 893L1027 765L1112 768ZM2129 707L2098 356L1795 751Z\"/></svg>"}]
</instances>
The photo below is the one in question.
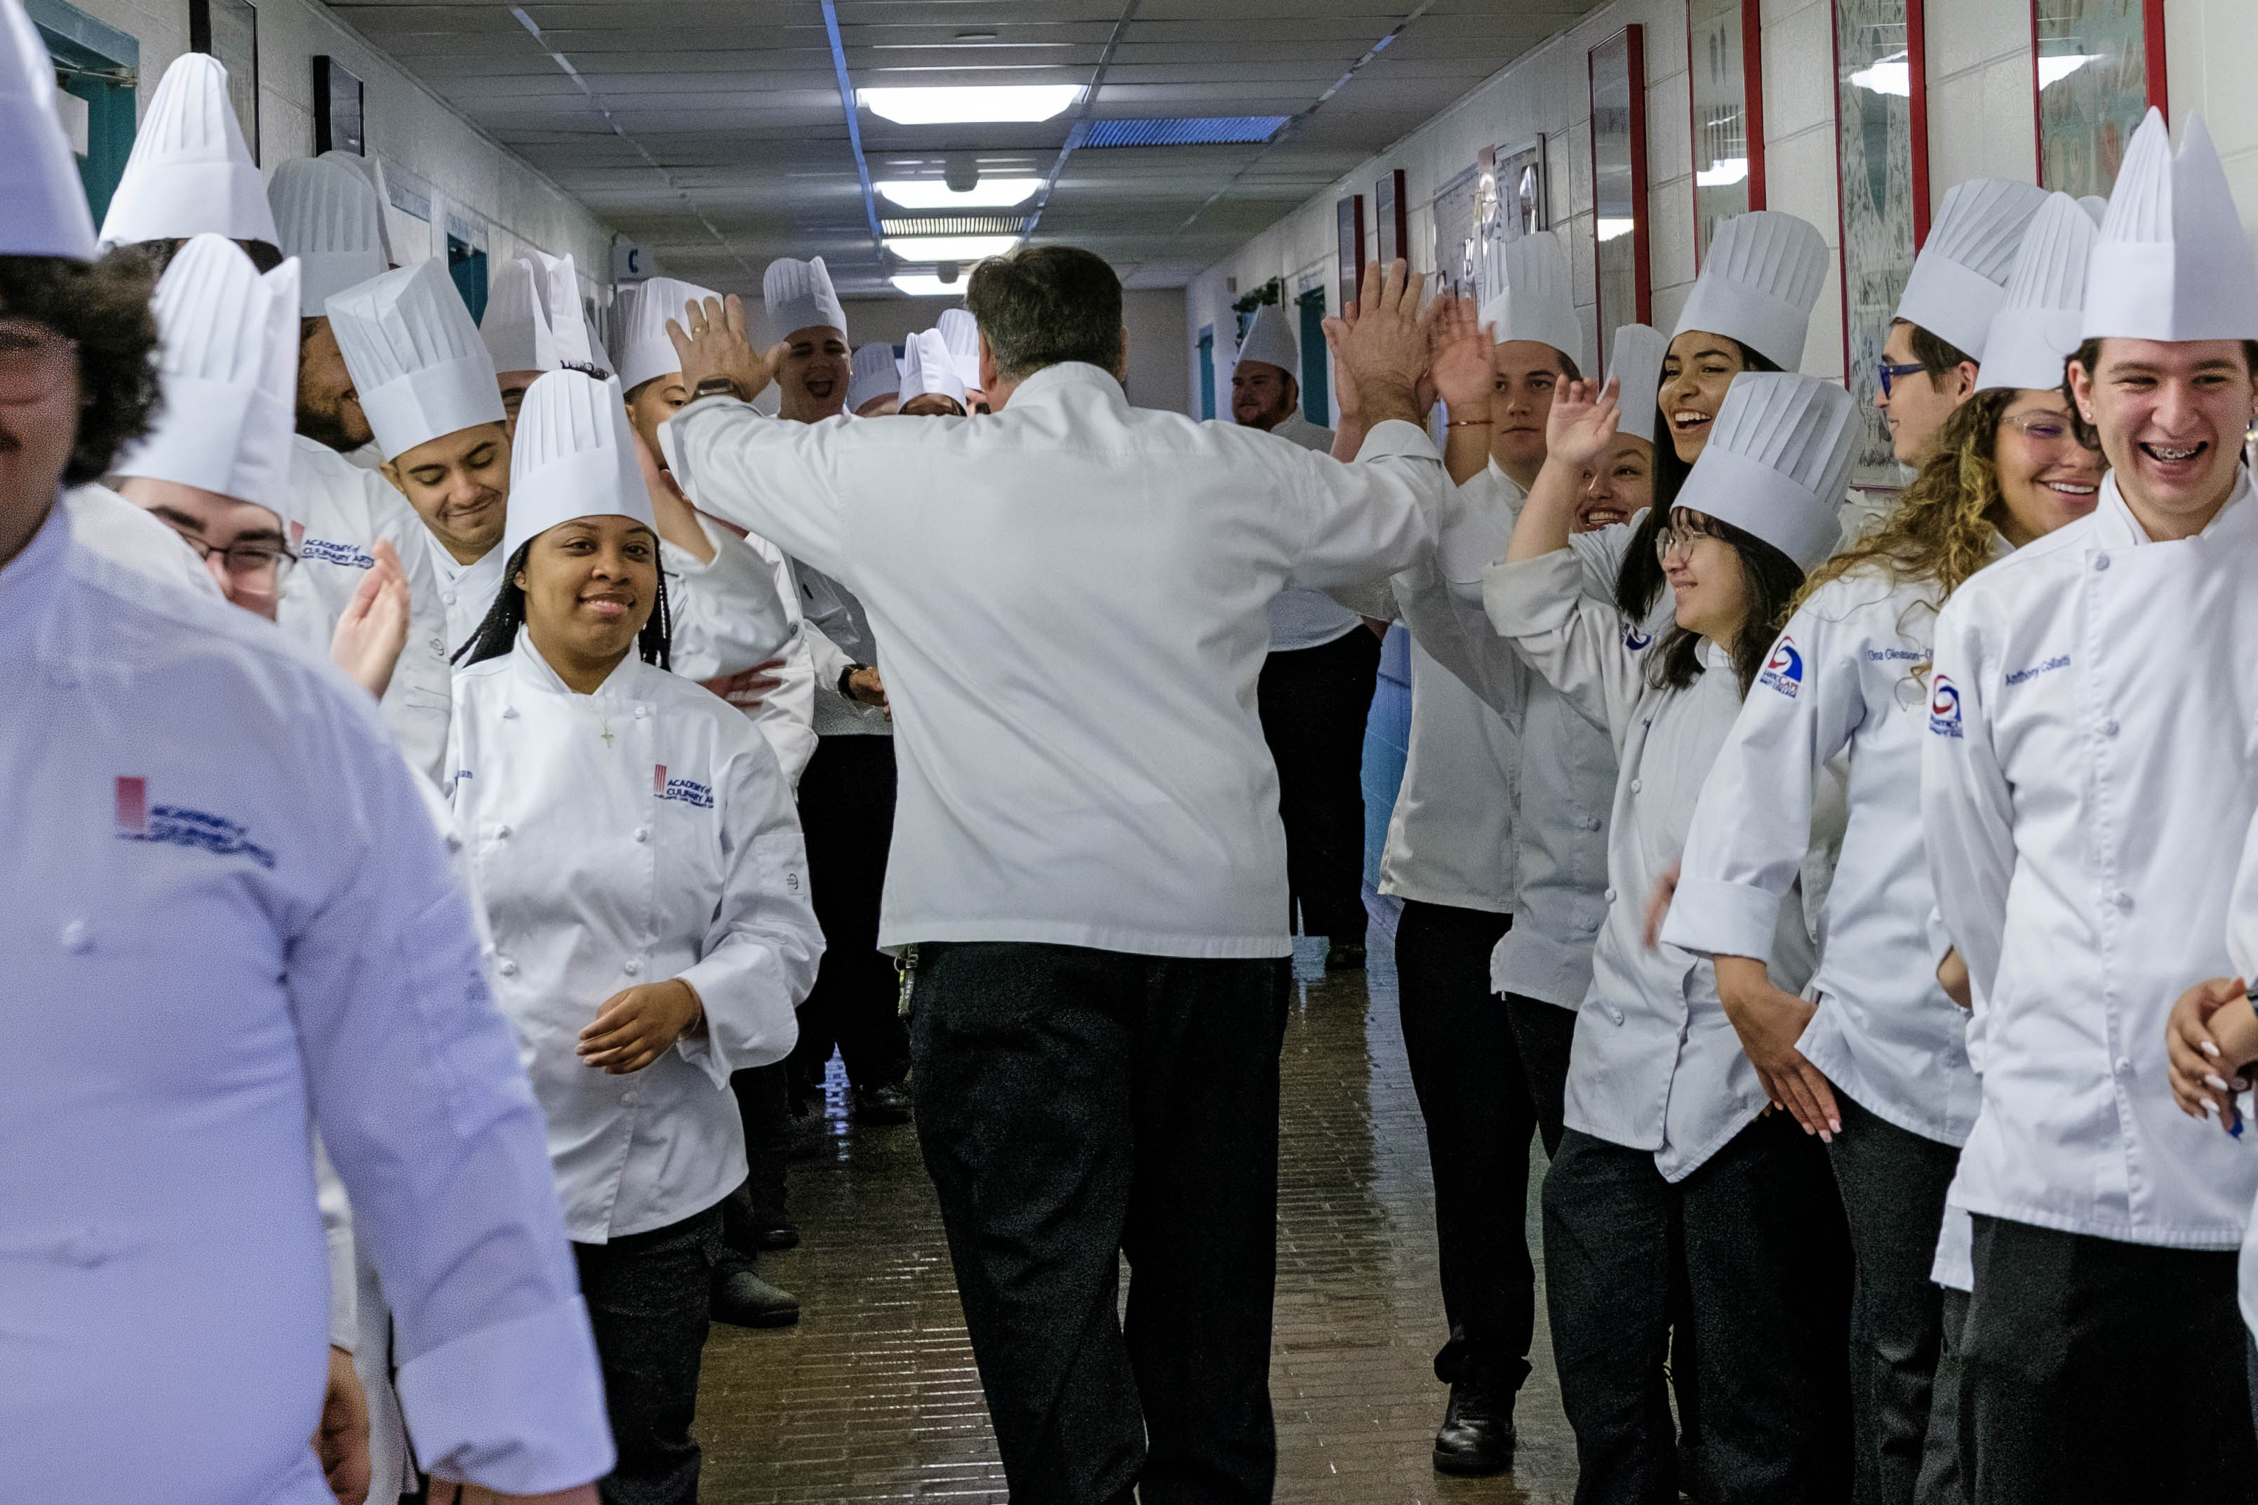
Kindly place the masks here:
<instances>
[{"instance_id":1,"label":"rightmost red-framed wall artwork, above the far-right chef hats","mask_svg":"<svg viewBox=\"0 0 2258 1505\"><path fill-rule=\"evenodd\" d=\"M2170 113L2163 0L2030 0L2039 187L2109 194L2150 106Z\"/></svg>"}]
</instances>

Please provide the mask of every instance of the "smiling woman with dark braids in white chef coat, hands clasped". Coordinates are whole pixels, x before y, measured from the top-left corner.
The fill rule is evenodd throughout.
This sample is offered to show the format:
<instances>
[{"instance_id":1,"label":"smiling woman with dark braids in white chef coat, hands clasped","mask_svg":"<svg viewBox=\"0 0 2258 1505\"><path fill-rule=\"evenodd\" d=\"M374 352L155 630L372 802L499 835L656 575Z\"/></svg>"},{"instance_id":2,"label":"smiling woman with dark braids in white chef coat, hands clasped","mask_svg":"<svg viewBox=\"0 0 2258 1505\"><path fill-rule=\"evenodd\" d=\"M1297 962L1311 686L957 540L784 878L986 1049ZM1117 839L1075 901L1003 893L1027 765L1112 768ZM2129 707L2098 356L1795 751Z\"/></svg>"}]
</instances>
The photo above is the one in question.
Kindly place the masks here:
<instances>
[{"instance_id":1,"label":"smiling woman with dark braids in white chef coat, hands clasped","mask_svg":"<svg viewBox=\"0 0 2258 1505\"><path fill-rule=\"evenodd\" d=\"M693 1500L689 1424L729 1074L781 1060L822 954L790 785L759 729L666 672L659 539L619 381L549 372L510 456L501 593L454 686L454 808L495 993L549 1115L619 1444Z\"/></svg>"}]
</instances>

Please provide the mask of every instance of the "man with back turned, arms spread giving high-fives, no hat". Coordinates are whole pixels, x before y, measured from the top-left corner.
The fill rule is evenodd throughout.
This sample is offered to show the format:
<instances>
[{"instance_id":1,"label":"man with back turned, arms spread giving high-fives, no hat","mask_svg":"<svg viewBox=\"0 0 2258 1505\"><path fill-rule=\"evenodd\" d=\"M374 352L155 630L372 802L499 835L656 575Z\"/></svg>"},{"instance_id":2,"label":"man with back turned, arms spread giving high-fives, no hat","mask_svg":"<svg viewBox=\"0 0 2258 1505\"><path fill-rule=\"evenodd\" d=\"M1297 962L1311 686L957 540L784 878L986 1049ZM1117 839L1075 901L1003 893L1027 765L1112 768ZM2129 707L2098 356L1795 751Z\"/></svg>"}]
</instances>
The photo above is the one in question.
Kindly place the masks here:
<instances>
[{"instance_id":1,"label":"man with back turned, arms spread giving high-fives, no hat","mask_svg":"<svg viewBox=\"0 0 2258 1505\"><path fill-rule=\"evenodd\" d=\"M709 302L664 438L883 645L878 941L912 957L919 1139L1014 1496L1267 1500L1292 941L1251 697L1271 596L1432 548L1418 282L1373 269L1344 338L1355 465L1131 408L1120 280L1086 250L984 262L966 300L989 417L765 420L743 309Z\"/></svg>"}]
</instances>

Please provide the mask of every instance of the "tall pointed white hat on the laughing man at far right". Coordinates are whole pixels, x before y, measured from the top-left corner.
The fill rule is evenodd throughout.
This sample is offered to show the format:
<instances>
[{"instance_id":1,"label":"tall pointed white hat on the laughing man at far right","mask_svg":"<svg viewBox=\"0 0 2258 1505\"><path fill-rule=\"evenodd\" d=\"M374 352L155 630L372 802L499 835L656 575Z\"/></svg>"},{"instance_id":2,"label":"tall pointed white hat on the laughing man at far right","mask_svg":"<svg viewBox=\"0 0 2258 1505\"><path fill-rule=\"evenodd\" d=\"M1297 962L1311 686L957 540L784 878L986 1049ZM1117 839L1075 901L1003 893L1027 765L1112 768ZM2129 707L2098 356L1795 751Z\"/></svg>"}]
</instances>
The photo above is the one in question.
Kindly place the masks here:
<instances>
[{"instance_id":1,"label":"tall pointed white hat on the laughing man at far right","mask_svg":"<svg viewBox=\"0 0 2258 1505\"><path fill-rule=\"evenodd\" d=\"M2150 111L2118 167L2086 273L2086 338L2258 338L2258 264L2202 115Z\"/></svg>"}]
</instances>

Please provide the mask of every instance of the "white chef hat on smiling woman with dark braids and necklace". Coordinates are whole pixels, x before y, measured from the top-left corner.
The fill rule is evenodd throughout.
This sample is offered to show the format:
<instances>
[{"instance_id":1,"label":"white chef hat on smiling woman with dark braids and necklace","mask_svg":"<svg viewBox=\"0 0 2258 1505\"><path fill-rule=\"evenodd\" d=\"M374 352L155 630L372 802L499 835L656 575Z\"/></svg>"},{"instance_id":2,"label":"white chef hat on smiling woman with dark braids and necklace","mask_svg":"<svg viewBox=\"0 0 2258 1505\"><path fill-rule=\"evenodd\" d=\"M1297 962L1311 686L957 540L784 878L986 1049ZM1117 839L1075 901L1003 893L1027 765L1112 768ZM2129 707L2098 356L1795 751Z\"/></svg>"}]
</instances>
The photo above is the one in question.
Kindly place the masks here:
<instances>
[{"instance_id":1,"label":"white chef hat on smiling woman with dark braids and necklace","mask_svg":"<svg viewBox=\"0 0 2258 1505\"><path fill-rule=\"evenodd\" d=\"M632 517L659 530L619 377L551 370L517 408L501 557L517 557L526 539L576 517Z\"/></svg>"}]
</instances>

